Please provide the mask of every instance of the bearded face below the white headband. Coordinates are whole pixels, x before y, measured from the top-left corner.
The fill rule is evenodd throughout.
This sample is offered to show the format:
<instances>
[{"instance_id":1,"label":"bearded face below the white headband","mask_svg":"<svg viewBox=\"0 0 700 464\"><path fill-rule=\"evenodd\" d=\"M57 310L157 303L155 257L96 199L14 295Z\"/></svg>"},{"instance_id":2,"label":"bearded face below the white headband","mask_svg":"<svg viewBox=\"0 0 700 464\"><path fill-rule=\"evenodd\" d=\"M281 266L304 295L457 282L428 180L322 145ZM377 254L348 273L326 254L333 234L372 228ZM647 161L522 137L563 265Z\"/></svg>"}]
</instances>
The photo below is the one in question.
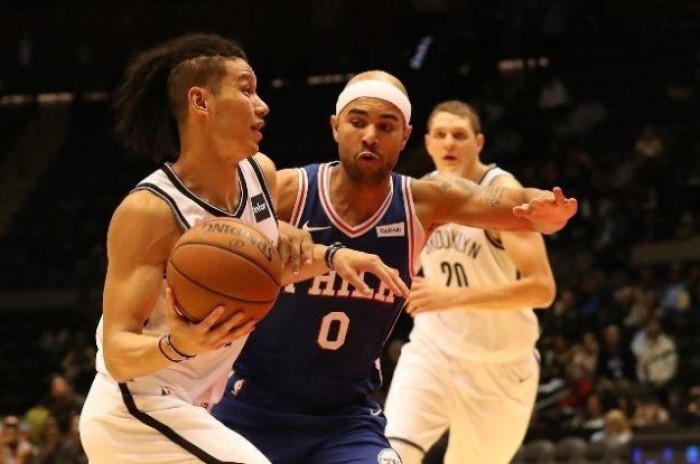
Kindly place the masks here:
<instances>
[{"instance_id":1,"label":"bearded face below the white headband","mask_svg":"<svg viewBox=\"0 0 700 464\"><path fill-rule=\"evenodd\" d=\"M366 185L387 181L411 134L401 111L378 98L351 101L331 117L331 126L343 167Z\"/></svg>"}]
</instances>

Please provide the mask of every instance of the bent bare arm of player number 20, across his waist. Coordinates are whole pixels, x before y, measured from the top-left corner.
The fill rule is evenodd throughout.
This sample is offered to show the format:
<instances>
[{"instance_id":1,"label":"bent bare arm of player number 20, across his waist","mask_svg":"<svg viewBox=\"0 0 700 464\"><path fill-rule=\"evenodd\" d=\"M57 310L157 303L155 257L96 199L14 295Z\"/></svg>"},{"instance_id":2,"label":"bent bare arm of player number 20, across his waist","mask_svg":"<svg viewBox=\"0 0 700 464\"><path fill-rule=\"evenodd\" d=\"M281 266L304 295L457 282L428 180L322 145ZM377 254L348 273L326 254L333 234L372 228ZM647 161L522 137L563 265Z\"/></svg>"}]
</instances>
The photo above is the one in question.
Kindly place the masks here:
<instances>
[{"instance_id":1,"label":"bent bare arm of player number 20, across his waist","mask_svg":"<svg viewBox=\"0 0 700 464\"><path fill-rule=\"evenodd\" d=\"M495 185L508 188L520 184L509 176ZM520 310L547 308L556 294L556 283L542 235L537 232L489 231L499 236L508 257L520 271L520 279L492 286L446 287L444 282L417 278L406 307L409 314L444 309Z\"/></svg>"}]
</instances>

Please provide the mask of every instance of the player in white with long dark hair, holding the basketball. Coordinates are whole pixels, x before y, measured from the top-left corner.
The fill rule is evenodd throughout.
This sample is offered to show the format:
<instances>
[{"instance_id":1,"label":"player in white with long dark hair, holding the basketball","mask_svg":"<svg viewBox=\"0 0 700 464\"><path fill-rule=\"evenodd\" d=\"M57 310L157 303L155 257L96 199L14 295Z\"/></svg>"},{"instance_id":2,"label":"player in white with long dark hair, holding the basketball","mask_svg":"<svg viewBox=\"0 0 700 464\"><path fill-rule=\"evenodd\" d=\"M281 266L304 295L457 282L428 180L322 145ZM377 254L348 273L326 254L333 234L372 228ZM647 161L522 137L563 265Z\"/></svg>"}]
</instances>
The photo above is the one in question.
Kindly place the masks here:
<instances>
[{"instance_id":1,"label":"player in white with long dark hair, holding the basketball","mask_svg":"<svg viewBox=\"0 0 700 464\"><path fill-rule=\"evenodd\" d=\"M173 247L200 221L253 225L280 252L281 284L335 268L362 290L369 272L407 293L376 256L313 245L307 232L278 224L274 164L251 157L268 111L244 51L220 36L176 38L127 69L117 132L128 148L167 162L127 195L109 226L97 375L80 421L92 464L269 463L208 411L256 320L222 317L219 306L188 322L164 279Z\"/></svg>"}]
</instances>

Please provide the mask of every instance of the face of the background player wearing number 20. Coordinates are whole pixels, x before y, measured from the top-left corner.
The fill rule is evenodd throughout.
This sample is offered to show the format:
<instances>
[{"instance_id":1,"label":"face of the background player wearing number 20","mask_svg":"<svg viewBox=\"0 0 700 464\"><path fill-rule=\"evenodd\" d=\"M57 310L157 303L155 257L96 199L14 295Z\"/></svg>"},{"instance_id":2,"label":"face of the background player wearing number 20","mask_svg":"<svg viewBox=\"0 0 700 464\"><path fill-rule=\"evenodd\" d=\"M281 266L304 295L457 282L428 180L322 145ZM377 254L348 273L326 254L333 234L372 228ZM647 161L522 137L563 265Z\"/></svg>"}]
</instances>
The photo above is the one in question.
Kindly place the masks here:
<instances>
[{"instance_id":1,"label":"face of the background player wearing number 20","mask_svg":"<svg viewBox=\"0 0 700 464\"><path fill-rule=\"evenodd\" d=\"M452 113L436 114L425 135L425 147L438 171L461 177L478 161L483 146L484 136L474 133L471 121Z\"/></svg>"}]
</instances>

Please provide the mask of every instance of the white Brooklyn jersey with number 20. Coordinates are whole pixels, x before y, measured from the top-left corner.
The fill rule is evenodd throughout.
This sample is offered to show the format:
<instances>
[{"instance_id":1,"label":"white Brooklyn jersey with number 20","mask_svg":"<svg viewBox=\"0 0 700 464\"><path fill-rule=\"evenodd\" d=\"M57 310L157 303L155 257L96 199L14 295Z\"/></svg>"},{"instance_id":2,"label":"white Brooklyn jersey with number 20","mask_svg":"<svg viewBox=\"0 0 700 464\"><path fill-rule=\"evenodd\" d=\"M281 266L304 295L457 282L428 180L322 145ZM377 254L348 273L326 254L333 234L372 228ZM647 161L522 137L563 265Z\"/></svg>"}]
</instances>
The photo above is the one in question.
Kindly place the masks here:
<instances>
[{"instance_id":1,"label":"white Brooklyn jersey with number 20","mask_svg":"<svg viewBox=\"0 0 700 464\"><path fill-rule=\"evenodd\" d=\"M493 166L481 179L487 186L511 174ZM421 252L423 275L448 287L485 287L512 282L518 270L500 241L486 230L447 224L436 229ZM539 336L532 308L470 309L418 314L411 332L450 357L508 361L532 356Z\"/></svg>"}]
</instances>

